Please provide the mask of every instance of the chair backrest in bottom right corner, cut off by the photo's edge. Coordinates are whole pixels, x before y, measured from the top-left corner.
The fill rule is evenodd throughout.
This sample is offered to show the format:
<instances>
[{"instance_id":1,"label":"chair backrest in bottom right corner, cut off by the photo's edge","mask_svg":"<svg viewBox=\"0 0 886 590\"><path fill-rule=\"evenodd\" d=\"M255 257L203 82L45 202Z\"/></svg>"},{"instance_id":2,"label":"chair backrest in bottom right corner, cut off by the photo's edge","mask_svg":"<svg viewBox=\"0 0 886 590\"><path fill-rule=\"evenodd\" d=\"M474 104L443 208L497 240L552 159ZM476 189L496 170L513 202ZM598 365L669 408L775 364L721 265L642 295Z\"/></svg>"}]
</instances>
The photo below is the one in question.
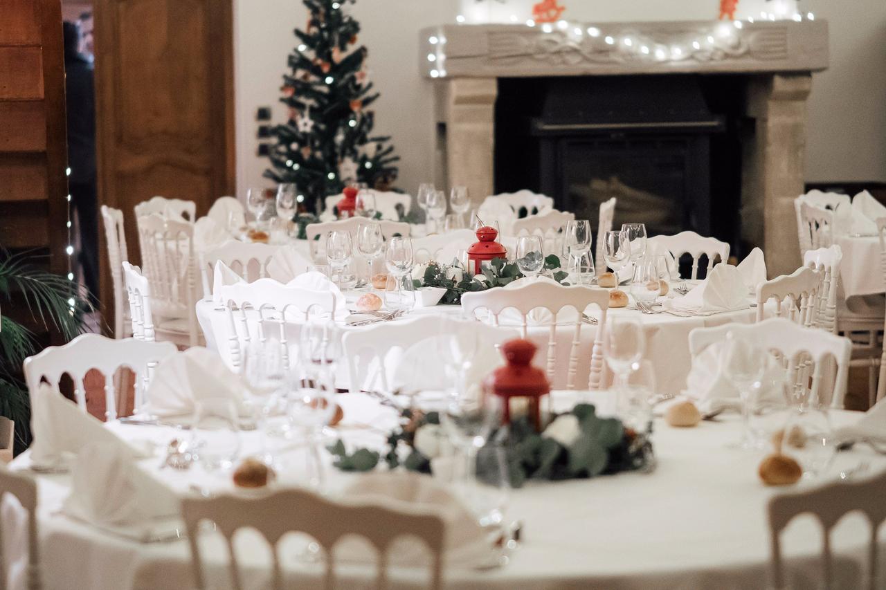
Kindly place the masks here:
<instances>
[{"instance_id":1,"label":"chair backrest in bottom right corner, cut off by the photo's edge","mask_svg":"<svg viewBox=\"0 0 886 590\"><path fill-rule=\"evenodd\" d=\"M867 516L871 526L867 551L867 588L879 588L877 559L880 547L877 532L886 520L886 503L882 501L886 489L886 472L866 479L837 480L810 490L781 493L769 500L769 540L772 549L773 588L787 588L781 563L781 532L796 516L811 514L822 528L821 561L825 588L835 588L830 532L850 512ZM860 587L857 586L857 587Z\"/></svg>"}]
</instances>

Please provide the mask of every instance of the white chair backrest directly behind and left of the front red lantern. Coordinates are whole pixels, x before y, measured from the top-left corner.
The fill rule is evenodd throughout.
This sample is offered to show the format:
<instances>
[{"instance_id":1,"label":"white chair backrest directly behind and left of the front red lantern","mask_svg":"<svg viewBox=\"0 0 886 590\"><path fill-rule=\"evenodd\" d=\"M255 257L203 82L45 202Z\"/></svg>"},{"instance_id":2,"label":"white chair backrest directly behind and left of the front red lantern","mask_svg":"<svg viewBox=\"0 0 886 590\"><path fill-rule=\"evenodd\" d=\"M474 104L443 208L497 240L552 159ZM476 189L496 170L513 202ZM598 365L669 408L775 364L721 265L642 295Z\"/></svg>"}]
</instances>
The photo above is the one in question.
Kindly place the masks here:
<instances>
[{"instance_id":1,"label":"white chair backrest directly behind and left of the front red lantern","mask_svg":"<svg viewBox=\"0 0 886 590\"><path fill-rule=\"evenodd\" d=\"M360 330L346 330L342 338L342 356L347 363L351 392L391 393L393 385L388 373L392 367L386 361L392 352L406 352L424 340L444 334L477 338L482 345L496 347L510 338L517 338L517 330L480 322L460 322L438 315L419 315L405 322L382 322Z\"/></svg>"}]
</instances>

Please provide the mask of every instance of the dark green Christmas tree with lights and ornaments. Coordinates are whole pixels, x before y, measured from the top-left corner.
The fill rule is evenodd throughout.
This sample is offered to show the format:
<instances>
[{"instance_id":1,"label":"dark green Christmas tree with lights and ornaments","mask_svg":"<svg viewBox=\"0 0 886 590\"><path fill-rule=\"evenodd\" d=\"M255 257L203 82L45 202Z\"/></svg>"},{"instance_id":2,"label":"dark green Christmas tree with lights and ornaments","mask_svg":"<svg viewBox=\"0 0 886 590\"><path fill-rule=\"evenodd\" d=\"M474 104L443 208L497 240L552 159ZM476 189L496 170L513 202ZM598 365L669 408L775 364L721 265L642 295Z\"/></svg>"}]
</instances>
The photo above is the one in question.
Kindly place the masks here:
<instances>
[{"instance_id":1,"label":"dark green Christmas tree with lights and ornaments","mask_svg":"<svg viewBox=\"0 0 886 590\"><path fill-rule=\"evenodd\" d=\"M357 46L360 24L345 11L354 1L303 0L307 27L295 29L299 45L281 89L289 120L271 128L276 144L265 176L294 182L307 206L351 182L387 190L397 176L391 138L370 136L378 93L368 80L369 51Z\"/></svg>"}]
</instances>

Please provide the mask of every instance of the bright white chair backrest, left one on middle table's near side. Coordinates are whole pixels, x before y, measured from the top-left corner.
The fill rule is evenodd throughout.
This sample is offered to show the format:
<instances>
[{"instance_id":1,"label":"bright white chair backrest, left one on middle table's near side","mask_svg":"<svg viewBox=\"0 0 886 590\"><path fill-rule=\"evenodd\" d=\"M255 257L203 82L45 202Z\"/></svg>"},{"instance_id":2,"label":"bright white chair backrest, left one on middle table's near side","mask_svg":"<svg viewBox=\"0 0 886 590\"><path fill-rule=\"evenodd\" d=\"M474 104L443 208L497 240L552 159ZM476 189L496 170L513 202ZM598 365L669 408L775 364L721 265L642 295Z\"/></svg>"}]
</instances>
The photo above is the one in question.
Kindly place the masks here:
<instances>
[{"instance_id":1,"label":"bright white chair backrest, left one on middle table's near side","mask_svg":"<svg viewBox=\"0 0 886 590\"><path fill-rule=\"evenodd\" d=\"M265 322L275 322L278 326L278 340L288 355L288 338L286 336L287 320L307 321L312 314L323 314L335 317L336 297L331 291L312 291L299 287L289 287L273 279L259 279L254 283L235 283L221 287L219 297L228 310L228 334L224 339L228 342L229 359L232 369L239 369L243 364L243 352L252 342L250 333L249 310L257 310L256 322L258 338L261 342L267 339L264 330ZM237 323L240 330L237 331ZM216 338L221 345L221 339ZM289 358L284 358L289 366Z\"/></svg>"}]
</instances>

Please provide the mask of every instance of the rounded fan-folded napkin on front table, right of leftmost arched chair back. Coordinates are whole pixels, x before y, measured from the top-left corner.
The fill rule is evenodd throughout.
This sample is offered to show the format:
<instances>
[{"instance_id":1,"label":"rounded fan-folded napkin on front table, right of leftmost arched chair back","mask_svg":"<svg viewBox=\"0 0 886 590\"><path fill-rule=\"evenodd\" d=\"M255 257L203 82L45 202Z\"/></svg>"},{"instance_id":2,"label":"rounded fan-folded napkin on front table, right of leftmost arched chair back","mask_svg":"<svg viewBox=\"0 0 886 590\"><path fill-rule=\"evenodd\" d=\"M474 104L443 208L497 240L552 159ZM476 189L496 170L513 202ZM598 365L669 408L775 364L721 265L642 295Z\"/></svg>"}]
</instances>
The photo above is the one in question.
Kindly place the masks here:
<instances>
[{"instance_id":1,"label":"rounded fan-folded napkin on front table, right of leftmost arched chair back","mask_svg":"<svg viewBox=\"0 0 886 590\"><path fill-rule=\"evenodd\" d=\"M145 412L159 417L188 416L207 398L229 398L241 409L245 382L203 346L191 346L160 361L148 386Z\"/></svg>"}]
</instances>

